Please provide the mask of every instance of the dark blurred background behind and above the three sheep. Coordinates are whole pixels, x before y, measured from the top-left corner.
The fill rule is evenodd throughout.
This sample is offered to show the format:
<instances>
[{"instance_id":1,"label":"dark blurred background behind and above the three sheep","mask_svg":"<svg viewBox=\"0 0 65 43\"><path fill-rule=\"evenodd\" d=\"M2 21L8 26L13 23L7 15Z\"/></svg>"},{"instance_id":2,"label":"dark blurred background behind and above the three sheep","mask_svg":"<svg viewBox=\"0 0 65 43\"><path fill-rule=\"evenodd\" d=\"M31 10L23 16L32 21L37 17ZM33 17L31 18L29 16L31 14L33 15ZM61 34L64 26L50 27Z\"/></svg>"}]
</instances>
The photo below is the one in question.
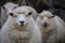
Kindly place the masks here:
<instances>
[{"instance_id":1,"label":"dark blurred background behind and above the three sheep","mask_svg":"<svg viewBox=\"0 0 65 43\"><path fill-rule=\"evenodd\" d=\"M1 6L6 2L18 3L20 5L29 5L41 13L43 10L51 11L54 15L60 16L65 22L65 0L0 0L0 20L1 20ZM1 22L0 22L1 26ZM60 43L65 43L63 40Z\"/></svg>"}]
</instances>

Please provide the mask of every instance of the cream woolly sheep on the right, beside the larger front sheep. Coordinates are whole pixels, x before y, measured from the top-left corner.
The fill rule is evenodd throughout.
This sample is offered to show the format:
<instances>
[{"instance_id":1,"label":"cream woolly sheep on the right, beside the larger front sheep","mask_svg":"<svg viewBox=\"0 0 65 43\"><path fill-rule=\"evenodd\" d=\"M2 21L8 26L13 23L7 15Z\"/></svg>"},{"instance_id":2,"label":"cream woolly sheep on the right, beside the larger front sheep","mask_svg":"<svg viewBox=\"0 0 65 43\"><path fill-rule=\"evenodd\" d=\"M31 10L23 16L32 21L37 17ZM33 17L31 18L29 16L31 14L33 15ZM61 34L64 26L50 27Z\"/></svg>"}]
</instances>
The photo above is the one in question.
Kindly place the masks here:
<instances>
[{"instance_id":1,"label":"cream woolly sheep on the right, beside the larger front sheep","mask_svg":"<svg viewBox=\"0 0 65 43\"><path fill-rule=\"evenodd\" d=\"M38 14L36 23L42 32L43 43L58 43L65 37L64 20L49 11Z\"/></svg>"}]
</instances>

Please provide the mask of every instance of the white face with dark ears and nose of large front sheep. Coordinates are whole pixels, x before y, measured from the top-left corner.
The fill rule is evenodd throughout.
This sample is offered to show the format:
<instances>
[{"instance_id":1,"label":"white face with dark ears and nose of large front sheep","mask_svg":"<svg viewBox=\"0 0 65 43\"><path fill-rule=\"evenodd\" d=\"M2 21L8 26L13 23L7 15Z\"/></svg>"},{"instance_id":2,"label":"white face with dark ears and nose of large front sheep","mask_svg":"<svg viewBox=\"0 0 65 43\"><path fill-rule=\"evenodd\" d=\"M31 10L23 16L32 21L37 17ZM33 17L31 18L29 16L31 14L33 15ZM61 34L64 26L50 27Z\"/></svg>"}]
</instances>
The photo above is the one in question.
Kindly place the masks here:
<instances>
[{"instance_id":1,"label":"white face with dark ears and nose of large front sheep","mask_svg":"<svg viewBox=\"0 0 65 43\"><path fill-rule=\"evenodd\" d=\"M14 17L15 22L20 26L25 26L28 23L29 16L32 12L27 12L27 11L14 11L13 13L10 13L12 17Z\"/></svg>"}]
</instances>

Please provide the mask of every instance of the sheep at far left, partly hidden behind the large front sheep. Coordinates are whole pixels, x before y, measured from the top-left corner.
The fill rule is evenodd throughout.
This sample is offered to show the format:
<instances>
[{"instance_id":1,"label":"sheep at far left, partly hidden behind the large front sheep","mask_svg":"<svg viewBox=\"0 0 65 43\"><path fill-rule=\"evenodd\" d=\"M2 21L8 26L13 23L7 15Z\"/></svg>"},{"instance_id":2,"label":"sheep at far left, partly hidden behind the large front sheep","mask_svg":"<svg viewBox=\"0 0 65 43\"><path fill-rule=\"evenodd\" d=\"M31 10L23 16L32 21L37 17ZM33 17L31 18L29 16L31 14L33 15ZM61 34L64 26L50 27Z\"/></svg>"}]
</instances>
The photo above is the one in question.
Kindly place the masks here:
<instances>
[{"instance_id":1,"label":"sheep at far left, partly hidden behind the large front sheep","mask_svg":"<svg viewBox=\"0 0 65 43\"><path fill-rule=\"evenodd\" d=\"M3 26L3 24L5 23L9 13L17 6L18 4L12 2L6 2L5 4L3 4L3 6L1 6L1 26Z\"/></svg>"}]
</instances>

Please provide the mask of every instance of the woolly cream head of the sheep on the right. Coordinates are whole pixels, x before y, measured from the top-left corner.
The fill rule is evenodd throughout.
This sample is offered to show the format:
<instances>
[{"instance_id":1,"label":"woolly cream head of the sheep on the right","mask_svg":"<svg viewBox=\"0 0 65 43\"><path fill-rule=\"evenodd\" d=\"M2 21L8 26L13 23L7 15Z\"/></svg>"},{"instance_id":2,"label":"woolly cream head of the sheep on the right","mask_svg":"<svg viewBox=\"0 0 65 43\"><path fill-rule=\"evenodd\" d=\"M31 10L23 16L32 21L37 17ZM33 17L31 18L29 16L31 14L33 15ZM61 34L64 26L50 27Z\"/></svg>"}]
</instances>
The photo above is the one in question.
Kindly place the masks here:
<instances>
[{"instance_id":1,"label":"woolly cream head of the sheep on the right","mask_svg":"<svg viewBox=\"0 0 65 43\"><path fill-rule=\"evenodd\" d=\"M42 27L48 27L51 25L53 17L54 16L52 15L52 13L43 11L41 14L39 14L38 22Z\"/></svg>"}]
</instances>

